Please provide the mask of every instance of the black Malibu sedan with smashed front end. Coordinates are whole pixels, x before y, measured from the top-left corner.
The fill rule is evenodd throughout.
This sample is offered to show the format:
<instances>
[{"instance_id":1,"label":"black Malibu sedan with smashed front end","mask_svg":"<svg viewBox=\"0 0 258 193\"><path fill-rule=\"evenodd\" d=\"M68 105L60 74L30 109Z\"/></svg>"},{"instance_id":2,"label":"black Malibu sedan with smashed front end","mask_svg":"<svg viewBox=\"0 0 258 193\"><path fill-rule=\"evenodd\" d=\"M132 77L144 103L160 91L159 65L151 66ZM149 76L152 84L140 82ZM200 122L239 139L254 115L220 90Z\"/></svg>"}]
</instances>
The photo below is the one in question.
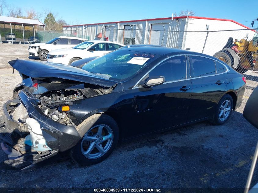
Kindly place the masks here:
<instances>
[{"instance_id":1,"label":"black Malibu sedan with smashed front end","mask_svg":"<svg viewBox=\"0 0 258 193\"><path fill-rule=\"evenodd\" d=\"M226 63L165 47L121 48L81 69L9 64L23 83L3 105L2 148L9 159L31 163L69 150L90 165L106 159L119 139L203 120L221 125L245 91L243 75Z\"/></svg>"}]
</instances>

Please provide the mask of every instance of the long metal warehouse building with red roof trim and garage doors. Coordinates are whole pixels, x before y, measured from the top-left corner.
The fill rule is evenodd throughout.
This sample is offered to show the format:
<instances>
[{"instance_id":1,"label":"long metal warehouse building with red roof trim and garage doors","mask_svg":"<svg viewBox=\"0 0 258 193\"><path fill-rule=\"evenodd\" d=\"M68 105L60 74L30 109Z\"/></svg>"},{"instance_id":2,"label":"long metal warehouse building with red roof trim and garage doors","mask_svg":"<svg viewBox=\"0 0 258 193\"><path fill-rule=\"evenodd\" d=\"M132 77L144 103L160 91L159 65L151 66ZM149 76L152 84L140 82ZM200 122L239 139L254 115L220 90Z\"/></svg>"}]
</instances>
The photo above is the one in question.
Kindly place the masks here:
<instances>
[{"instance_id":1,"label":"long metal warehouse building with red roof trim and garage doors","mask_svg":"<svg viewBox=\"0 0 258 193\"><path fill-rule=\"evenodd\" d=\"M89 40L107 39L125 45L154 44L171 48L190 48L213 55L223 48L229 37L248 40L255 31L234 20L180 16L147 20L117 21L63 26L64 34Z\"/></svg>"}]
</instances>

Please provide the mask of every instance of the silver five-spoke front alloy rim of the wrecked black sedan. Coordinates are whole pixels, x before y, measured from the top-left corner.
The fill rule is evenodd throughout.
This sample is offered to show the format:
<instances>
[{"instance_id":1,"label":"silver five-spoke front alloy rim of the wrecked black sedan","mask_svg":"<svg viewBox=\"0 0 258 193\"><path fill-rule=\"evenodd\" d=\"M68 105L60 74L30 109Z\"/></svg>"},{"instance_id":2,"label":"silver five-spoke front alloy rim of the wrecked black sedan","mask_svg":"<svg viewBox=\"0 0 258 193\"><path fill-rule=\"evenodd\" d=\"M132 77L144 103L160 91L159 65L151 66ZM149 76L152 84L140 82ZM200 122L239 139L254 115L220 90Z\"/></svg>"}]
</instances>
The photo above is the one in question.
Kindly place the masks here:
<instances>
[{"instance_id":1,"label":"silver five-spoke front alloy rim of the wrecked black sedan","mask_svg":"<svg viewBox=\"0 0 258 193\"><path fill-rule=\"evenodd\" d=\"M100 158L110 149L113 138L113 131L107 125L94 126L82 138L82 154L88 159Z\"/></svg>"}]
</instances>

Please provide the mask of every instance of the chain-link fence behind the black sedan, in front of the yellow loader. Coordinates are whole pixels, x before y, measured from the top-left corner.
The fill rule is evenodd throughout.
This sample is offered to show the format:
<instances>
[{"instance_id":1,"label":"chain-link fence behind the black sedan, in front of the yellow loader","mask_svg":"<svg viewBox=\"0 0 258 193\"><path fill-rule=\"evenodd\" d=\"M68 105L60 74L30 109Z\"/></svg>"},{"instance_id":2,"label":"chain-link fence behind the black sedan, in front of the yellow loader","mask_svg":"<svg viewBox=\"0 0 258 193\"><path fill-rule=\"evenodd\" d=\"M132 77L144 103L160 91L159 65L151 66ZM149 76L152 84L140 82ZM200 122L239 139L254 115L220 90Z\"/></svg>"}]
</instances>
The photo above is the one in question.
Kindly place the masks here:
<instances>
[{"instance_id":1,"label":"chain-link fence behind the black sedan, in front of the yellow loader","mask_svg":"<svg viewBox=\"0 0 258 193\"><path fill-rule=\"evenodd\" d=\"M164 27L165 29L165 27ZM257 29L176 31L103 28L101 40L124 45L153 44L214 56L258 83Z\"/></svg>"}]
</instances>

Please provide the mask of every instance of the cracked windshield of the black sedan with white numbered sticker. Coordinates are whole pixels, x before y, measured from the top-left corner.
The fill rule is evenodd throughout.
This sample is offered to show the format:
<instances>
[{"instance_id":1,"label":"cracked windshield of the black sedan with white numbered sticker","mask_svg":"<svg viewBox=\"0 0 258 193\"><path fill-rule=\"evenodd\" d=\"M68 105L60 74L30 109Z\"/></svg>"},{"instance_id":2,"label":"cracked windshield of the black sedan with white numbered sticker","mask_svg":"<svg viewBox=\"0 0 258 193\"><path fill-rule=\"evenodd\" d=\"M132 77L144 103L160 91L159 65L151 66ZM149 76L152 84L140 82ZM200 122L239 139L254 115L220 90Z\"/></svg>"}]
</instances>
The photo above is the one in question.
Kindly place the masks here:
<instances>
[{"instance_id":1,"label":"cracked windshield of the black sedan with white numbered sticker","mask_svg":"<svg viewBox=\"0 0 258 193\"><path fill-rule=\"evenodd\" d=\"M82 66L82 70L121 82L135 75L143 66L158 57L159 55L155 54L123 49L116 50L86 63Z\"/></svg>"}]
</instances>

